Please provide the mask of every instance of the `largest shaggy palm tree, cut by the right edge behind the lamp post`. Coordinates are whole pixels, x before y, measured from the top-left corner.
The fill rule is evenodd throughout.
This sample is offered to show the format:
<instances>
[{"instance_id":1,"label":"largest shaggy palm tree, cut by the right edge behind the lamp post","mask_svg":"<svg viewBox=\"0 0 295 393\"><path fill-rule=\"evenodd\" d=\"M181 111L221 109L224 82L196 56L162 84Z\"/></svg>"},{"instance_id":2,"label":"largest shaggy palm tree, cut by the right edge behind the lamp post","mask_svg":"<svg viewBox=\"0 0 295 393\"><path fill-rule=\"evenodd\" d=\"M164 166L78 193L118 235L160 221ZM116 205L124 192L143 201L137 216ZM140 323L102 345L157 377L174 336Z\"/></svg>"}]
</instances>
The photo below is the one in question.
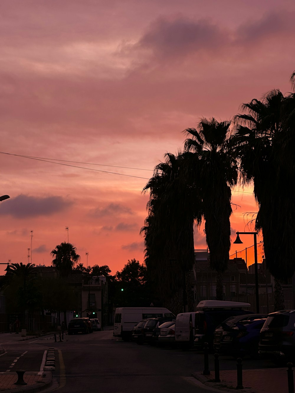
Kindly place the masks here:
<instances>
[{"instance_id":1,"label":"largest shaggy palm tree, cut by the right edge behind the lamp post","mask_svg":"<svg viewBox=\"0 0 295 393\"><path fill-rule=\"evenodd\" d=\"M294 75L294 74L293 74ZM294 94L271 90L242 105L233 138L243 184L254 185L256 230L262 230L267 268L275 277L275 310L284 309L281 283L295 270Z\"/></svg>"}]
</instances>

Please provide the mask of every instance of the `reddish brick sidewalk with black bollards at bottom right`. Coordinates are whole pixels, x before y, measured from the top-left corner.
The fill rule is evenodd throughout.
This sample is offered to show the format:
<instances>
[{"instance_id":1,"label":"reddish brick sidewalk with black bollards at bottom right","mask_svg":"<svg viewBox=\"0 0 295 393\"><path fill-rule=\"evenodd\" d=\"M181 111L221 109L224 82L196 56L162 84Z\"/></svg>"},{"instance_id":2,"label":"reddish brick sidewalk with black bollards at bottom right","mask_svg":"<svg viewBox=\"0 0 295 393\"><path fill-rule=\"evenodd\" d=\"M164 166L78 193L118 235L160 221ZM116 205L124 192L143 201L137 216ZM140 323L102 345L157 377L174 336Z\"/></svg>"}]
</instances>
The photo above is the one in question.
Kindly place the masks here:
<instances>
[{"instance_id":1,"label":"reddish brick sidewalk with black bollards at bottom right","mask_svg":"<svg viewBox=\"0 0 295 393\"><path fill-rule=\"evenodd\" d=\"M248 393L288 393L287 369L288 367L243 370L244 389L239 389L238 391ZM214 389L230 392L232 392L232 389L236 389L236 370L220 370L219 374L221 382L214 382L214 371L211 371L210 375L203 375L201 371L197 371L192 376Z\"/></svg>"}]
</instances>

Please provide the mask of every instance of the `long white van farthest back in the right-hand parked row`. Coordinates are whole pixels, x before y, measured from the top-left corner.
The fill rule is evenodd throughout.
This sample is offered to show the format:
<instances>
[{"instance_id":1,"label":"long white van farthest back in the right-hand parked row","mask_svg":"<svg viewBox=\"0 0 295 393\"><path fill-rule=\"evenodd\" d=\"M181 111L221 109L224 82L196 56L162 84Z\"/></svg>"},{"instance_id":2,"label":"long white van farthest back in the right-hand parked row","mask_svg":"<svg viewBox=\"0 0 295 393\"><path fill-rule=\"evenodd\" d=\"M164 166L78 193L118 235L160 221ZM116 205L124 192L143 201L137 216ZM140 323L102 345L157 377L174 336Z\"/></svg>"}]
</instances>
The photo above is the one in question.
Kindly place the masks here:
<instances>
[{"instance_id":1,"label":"long white van farthest back in the right-hand parked row","mask_svg":"<svg viewBox=\"0 0 295 393\"><path fill-rule=\"evenodd\" d=\"M174 316L163 307L119 307L115 311L113 336L128 341L131 339L133 326L142 319Z\"/></svg>"}]
</instances>

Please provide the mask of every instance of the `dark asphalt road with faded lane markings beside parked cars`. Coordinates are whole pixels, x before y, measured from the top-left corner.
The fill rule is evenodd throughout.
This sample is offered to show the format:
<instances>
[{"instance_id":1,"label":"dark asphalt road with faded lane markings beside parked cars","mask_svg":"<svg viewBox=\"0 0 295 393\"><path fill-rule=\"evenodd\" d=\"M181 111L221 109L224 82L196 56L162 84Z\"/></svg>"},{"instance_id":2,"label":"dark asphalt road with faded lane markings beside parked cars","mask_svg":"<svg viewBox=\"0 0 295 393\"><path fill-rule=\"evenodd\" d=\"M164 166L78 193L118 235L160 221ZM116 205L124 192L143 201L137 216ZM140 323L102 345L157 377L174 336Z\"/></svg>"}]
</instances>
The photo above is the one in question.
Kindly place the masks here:
<instances>
[{"instance_id":1,"label":"dark asphalt road with faded lane markings beside parked cars","mask_svg":"<svg viewBox=\"0 0 295 393\"><path fill-rule=\"evenodd\" d=\"M52 337L52 335L51 335ZM100 391L100 393L208 392L191 377L203 370L203 354L150 345L123 342L112 330L65 336L54 342L50 336L27 341L16 335L1 334L6 353L0 356L0 371L39 371L44 351L55 348L56 370L53 377L60 393ZM210 369L213 369L210 355ZM244 368L274 367L269 361L243 361ZM236 361L221 357L221 369L236 368Z\"/></svg>"}]
</instances>

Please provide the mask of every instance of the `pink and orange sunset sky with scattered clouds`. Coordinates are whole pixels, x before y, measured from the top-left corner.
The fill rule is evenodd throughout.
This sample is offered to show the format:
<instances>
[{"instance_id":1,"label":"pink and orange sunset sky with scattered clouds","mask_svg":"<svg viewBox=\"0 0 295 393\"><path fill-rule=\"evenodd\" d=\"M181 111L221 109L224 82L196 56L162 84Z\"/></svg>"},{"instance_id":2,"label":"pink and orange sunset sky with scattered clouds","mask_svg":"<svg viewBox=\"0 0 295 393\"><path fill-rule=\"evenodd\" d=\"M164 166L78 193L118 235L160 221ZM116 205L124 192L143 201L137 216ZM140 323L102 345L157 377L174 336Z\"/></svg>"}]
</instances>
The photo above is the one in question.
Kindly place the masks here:
<instances>
[{"instance_id":1,"label":"pink and orange sunset sky with scattered clouds","mask_svg":"<svg viewBox=\"0 0 295 393\"><path fill-rule=\"evenodd\" d=\"M291 91L294 19L293 0L2 0L0 274L65 241L112 274L142 263L153 168L201 117ZM251 187L232 203L234 241L254 230Z\"/></svg>"}]
</instances>

